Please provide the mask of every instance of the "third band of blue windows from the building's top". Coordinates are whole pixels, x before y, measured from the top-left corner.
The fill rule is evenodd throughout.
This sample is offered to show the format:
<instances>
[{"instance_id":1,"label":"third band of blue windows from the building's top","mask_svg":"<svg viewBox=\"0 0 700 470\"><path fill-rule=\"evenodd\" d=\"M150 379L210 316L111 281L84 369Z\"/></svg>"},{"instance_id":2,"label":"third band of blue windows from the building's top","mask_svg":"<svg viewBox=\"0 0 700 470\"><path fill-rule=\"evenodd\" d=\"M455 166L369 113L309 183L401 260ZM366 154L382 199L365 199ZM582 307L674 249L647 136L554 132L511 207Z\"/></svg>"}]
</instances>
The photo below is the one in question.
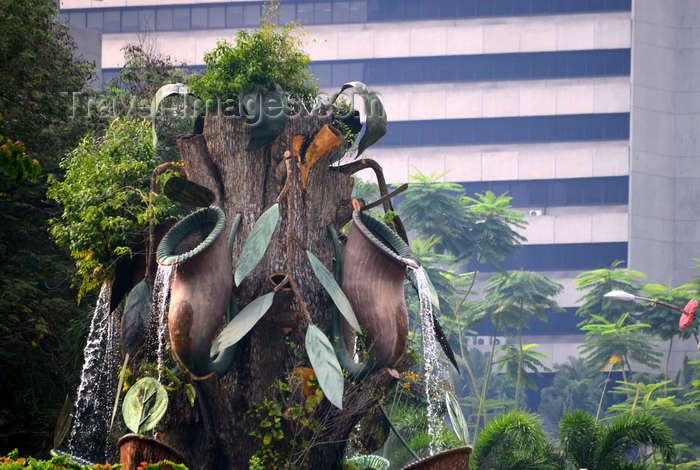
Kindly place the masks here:
<instances>
[{"instance_id":1,"label":"third band of blue windows from the building's top","mask_svg":"<svg viewBox=\"0 0 700 470\"><path fill-rule=\"evenodd\" d=\"M390 121L384 147L628 140L629 113Z\"/></svg>"}]
</instances>

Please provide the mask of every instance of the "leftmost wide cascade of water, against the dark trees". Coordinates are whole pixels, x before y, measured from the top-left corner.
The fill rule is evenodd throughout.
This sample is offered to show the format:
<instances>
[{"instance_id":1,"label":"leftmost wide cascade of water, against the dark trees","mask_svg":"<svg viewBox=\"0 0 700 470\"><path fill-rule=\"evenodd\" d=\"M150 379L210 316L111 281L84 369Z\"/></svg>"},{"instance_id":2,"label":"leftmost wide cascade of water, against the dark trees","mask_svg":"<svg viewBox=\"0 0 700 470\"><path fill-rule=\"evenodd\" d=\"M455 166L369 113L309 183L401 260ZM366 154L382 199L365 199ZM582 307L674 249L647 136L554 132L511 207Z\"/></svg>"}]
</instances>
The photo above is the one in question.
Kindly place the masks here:
<instances>
[{"instance_id":1,"label":"leftmost wide cascade of water, against the dark trees","mask_svg":"<svg viewBox=\"0 0 700 470\"><path fill-rule=\"evenodd\" d=\"M102 285L90 324L85 363L75 402L69 453L91 462L107 462L109 421L116 394L119 367L119 318L110 314L112 284Z\"/></svg>"}]
</instances>

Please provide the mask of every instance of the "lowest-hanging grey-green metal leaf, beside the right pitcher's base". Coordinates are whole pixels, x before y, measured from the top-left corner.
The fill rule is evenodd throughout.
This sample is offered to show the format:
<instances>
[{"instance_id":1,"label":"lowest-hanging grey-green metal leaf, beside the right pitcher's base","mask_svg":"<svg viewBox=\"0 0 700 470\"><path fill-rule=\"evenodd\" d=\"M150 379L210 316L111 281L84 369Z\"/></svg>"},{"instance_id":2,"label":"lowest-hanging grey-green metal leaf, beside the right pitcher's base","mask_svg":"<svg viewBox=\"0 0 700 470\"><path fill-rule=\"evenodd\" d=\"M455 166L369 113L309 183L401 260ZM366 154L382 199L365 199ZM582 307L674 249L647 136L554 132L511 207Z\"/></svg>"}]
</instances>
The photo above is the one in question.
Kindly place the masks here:
<instances>
[{"instance_id":1,"label":"lowest-hanging grey-green metal leaf, beside the right pitcher's base","mask_svg":"<svg viewBox=\"0 0 700 470\"><path fill-rule=\"evenodd\" d=\"M314 325L306 330L306 353L326 398L343 409L343 371L328 337Z\"/></svg>"}]
</instances>

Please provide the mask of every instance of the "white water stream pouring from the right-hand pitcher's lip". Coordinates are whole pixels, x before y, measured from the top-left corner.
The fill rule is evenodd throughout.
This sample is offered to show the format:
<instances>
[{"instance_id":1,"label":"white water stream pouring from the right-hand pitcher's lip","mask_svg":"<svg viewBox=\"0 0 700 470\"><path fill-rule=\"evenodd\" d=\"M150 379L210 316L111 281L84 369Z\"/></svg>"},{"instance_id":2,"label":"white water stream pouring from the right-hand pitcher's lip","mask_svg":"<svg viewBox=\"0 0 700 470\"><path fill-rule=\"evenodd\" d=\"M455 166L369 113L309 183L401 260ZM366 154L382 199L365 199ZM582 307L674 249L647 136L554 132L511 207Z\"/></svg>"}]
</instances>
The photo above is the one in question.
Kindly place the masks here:
<instances>
[{"instance_id":1,"label":"white water stream pouring from the right-hand pitcher's lip","mask_svg":"<svg viewBox=\"0 0 700 470\"><path fill-rule=\"evenodd\" d=\"M428 433L430 436L437 436L442 421L437 413L438 401L442 397L439 391L439 383L444 377L442 364L438 360L440 350L435 339L433 327L433 304L430 300L430 288L425 269L415 262L408 263L409 269L413 271L418 290L421 318L421 336L423 346L423 363L425 367L425 396L428 401ZM435 440L430 441L430 455L436 454L442 449L438 448Z\"/></svg>"}]
</instances>

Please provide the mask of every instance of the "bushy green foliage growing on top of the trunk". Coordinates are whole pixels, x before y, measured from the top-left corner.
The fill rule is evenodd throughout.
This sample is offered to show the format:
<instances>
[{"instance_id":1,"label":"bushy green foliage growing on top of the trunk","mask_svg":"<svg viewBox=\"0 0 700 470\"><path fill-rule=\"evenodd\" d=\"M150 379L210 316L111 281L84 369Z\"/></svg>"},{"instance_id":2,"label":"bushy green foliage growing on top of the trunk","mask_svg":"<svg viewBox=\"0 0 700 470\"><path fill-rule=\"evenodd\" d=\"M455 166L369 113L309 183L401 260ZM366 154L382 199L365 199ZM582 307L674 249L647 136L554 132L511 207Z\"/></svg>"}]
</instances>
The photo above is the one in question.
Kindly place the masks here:
<instances>
[{"instance_id":1,"label":"bushy green foliage growing on top of the trunk","mask_svg":"<svg viewBox=\"0 0 700 470\"><path fill-rule=\"evenodd\" d=\"M301 49L299 37L292 35L296 23L277 29L276 9L277 5L268 7L259 29L239 30L235 44L219 41L204 54L207 71L191 77L190 91L203 100L231 99L238 104L241 93L265 94L279 86L291 97L311 103L318 94L307 72L311 59Z\"/></svg>"}]
</instances>

